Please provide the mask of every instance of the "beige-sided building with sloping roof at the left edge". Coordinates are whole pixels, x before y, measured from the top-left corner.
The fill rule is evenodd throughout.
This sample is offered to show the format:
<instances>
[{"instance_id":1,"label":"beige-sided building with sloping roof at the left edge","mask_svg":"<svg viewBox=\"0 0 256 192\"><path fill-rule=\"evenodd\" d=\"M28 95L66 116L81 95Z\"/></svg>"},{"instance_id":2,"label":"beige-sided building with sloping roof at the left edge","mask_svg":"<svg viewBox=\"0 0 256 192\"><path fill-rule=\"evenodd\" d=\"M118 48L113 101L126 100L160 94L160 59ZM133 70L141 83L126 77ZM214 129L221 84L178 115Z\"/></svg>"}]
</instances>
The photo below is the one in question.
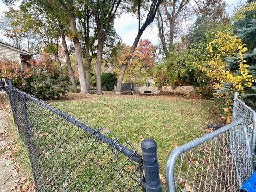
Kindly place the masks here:
<instances>
[{"instance_id":1,"label":"beige-sided building with sloping roof at the left edge","mask_svg":"<svg viewBox=\"0 0 256 192\"><path fill-rule=\"evenodd\" d=\"M26 60L32 58L32 54L28 51L0 42L0 57L1 56L9 60L18 61L21 68L24 67Z\"/></svg>"}]
</instances>

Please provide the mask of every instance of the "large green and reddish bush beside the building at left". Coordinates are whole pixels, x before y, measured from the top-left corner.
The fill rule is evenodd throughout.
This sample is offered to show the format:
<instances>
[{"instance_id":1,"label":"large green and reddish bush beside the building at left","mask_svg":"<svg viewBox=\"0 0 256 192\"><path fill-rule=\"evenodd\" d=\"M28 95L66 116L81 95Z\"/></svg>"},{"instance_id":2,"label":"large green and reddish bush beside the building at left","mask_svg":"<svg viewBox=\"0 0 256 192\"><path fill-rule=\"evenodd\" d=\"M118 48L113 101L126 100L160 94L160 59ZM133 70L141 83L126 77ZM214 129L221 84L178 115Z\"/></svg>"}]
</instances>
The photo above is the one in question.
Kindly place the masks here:
<instances>
[{"instance_id":1,"label":"large green and reddish bush beside the building at left","mask_svg":"<svg viewBox=\"0 0 256 192\"><path fill-rule=\"evenodd\" d=\"M30 60L24 69L18 62L0 58L0 75L13 78L14 86L40 99L56 99L68 91L69 77L60 73L47 57Z\"/></svg>"}]
</instances>

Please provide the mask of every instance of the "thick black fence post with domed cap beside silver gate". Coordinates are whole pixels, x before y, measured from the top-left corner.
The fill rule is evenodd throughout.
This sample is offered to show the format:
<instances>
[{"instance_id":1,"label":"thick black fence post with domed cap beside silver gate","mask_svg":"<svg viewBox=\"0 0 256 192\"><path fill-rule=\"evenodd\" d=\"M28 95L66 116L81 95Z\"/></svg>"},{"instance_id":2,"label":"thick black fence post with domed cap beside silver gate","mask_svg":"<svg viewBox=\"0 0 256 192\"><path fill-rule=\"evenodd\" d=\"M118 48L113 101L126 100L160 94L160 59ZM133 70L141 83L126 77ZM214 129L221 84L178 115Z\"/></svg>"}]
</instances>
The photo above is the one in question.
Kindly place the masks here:
<instances>
[{"instance_id":1,"label":"thick black fence post with domed cap beside silver gate","mask_svg":"<svg viewBox=\"0 0 256 192\"><path fill-rule=\"evenodd\" d=\"M141 149L143 154L146 191L161 191L156 142L153 139L145 139L141 143Z\"/></svg>"}]
</instances>

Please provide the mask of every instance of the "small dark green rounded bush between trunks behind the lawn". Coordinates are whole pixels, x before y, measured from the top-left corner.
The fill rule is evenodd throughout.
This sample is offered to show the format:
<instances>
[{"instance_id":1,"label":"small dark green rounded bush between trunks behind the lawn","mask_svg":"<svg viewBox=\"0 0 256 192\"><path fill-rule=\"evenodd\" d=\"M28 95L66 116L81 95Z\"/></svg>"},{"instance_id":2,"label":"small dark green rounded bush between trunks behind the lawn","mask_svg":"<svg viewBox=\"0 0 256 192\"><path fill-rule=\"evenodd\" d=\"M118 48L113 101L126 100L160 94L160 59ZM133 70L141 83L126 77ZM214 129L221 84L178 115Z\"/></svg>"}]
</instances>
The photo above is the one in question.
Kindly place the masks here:
<instances>
[{"instance_id":1,"label":"small dark green rounded bush between trunks behind the lawn","mask_svg":"<svg viewBox=\"0 0 256 192\"><path fill-rule=\"evenodd\" d=\"M101 85L103 89L112 91L114 89L115 83L117 83L117 74L115 72L102 73Z\"/></svg>"}]
</instances>

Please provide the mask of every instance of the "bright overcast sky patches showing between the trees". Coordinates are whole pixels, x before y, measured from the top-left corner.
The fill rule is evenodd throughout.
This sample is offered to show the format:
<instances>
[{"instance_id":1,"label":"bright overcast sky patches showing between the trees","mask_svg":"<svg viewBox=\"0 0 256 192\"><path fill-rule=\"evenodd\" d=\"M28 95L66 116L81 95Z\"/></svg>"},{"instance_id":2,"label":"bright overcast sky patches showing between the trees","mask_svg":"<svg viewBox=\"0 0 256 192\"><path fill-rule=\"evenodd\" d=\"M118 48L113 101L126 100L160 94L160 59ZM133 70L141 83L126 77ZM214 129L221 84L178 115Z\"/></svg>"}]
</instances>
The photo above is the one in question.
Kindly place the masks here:
<instances>
[{"instance_id":1,"label":"bright overcast sky patches showing between the trees","mask_svg":"<svg viewBox=\"0 0 256 192\"><path fill-rule=\"evenodd\" d=\"M0 0L1 1L1 0ZM233 13L234 7L239 2L246 2L246 0L226 0L228 3L227 12L229 14ZM18 8L18 5L20 3L17 3L16 8ZM0 2L0 15L3 15L3 12L8 10L8 8L4 5L4 3ZM133 40L137 34L138 30L138 21L136 18L132 17L131 14L122 14L120 18L115 19L114 26L116 28L117 33L121 36L123 43L127 45L132 45ZM150 26L148 27L145 32L143 33L141 39L149 39L153 44L158 43L158 35L157 35L157 27L156 26ZM3 36L3 34L0 34L0 39L4 39L4 41L7 41L7 39Z\"/></svg>"}]
</instances>

